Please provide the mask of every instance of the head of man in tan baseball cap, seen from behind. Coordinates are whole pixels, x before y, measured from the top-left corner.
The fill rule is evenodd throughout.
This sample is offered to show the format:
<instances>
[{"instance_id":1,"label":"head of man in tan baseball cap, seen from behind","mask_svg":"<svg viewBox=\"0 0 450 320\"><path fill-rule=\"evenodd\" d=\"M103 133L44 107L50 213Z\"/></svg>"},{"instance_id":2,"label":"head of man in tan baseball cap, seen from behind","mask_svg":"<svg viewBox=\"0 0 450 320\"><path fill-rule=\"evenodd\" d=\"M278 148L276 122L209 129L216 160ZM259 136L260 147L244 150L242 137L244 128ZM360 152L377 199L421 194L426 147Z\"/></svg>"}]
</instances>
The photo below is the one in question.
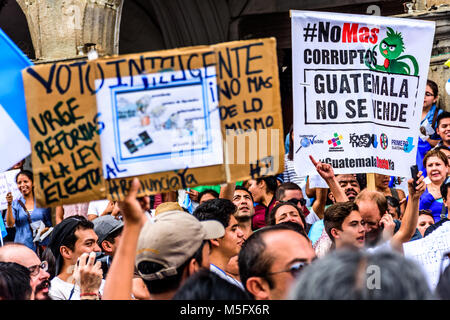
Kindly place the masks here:
<instances>
[{"instance_id":1,"label":"head of man in tan baseball cap, seen from behind","mask_svg":"<svg viewBox=\"0 0 450 320\"><path fill-rule=\"evenodd\" d=\"M139 235L135 265L151 299L172 299L184 281L209 269L208 240L225 235L218 221L199 221L184 211L158 214L147 221Z\"/></svg>"}]
</instances>

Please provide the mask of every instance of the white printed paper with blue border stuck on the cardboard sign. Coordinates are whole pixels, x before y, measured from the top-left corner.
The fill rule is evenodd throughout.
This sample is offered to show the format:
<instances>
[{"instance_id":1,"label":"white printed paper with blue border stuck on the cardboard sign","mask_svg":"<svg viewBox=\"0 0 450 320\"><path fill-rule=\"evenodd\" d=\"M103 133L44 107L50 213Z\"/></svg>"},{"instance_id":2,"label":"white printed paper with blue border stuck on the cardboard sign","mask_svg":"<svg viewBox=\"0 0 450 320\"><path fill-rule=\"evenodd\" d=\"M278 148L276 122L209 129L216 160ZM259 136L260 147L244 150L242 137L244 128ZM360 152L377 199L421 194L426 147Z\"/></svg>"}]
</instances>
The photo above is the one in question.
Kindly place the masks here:
<instances>
[{"instance_id":1,"label":"white printed paper with blue border stuck on the cardboard sign","mask_svg":"<svg viewBox=\"0 0 450 320\"><path fill-rule=\"evenodd\" d=\"M129 177L223 163L215 77L165 71L143 79L132 88L106 79L110 92L97 94L100 120L112 124L100 136L105 178L113 166Z\"/></svg>"}]
</instances>

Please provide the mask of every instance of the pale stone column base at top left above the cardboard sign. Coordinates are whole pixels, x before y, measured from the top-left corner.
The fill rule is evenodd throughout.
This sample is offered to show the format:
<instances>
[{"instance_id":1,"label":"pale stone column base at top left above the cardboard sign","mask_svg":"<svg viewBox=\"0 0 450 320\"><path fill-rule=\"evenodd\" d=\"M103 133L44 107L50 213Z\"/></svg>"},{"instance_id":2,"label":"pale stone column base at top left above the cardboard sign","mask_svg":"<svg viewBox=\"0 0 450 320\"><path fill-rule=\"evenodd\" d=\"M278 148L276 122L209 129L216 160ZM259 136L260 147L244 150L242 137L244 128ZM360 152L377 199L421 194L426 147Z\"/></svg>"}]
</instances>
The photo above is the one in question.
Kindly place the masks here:
<instances>
[{"instance_id":1,"label":"pale stone column base at top left above the cardboard sign","mask_svg":"<svg viewBox=\"0 0 450 320\"><path fill-rule=\"evenodd\" d=\"M95 46L119 53L124 0L17 0L27 18L36 62L80 58Z\"/></svg>"}]
</instances>

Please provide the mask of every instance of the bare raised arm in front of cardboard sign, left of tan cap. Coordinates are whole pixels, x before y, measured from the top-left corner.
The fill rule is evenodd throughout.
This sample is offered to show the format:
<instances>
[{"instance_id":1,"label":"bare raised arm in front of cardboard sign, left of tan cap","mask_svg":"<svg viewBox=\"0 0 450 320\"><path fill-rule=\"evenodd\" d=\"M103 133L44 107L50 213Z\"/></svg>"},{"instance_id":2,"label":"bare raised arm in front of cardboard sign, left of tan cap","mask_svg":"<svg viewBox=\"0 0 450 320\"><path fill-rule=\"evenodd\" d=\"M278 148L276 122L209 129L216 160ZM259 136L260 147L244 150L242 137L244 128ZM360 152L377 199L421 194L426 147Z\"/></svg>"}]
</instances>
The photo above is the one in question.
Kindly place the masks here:
<instances>
[{"instance_id":1,"label":"bare raised arm in front of cardboard sign, left of tan cap","mask_svg":"<svg viewBox=\"0 0 450 320\"><path fill-rule=\"evenodd\" d=\"M134 259L139 233L146 217L136 199L140 183L135 178L125 201L119 206L124 219L122 238L106 276L104 300L131 300Z\"/></svg>"}]
</instances>

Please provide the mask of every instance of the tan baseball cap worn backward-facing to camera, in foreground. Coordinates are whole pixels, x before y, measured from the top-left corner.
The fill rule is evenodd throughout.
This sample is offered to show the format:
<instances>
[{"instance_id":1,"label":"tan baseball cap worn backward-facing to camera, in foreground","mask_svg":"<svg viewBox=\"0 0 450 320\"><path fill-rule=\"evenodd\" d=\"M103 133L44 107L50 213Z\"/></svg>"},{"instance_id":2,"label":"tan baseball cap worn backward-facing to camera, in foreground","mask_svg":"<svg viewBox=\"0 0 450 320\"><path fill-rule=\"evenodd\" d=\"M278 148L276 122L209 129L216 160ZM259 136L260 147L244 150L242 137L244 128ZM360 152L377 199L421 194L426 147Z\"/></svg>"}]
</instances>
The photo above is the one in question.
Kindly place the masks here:
<instances>
[{"instance_id":1,"label":"tan baseball cap worn backward-facing to camera, in foreground","mask_svg":"<svg viewBox=\"0 0 450 320\"><path fill-rule=\"evenodd\" d=\"M177 268L192 257L203 240L225 235L223 225L215 220L199 221L184 211L173 210L158 214L155 221L147 221L139 234L136 248L136 267L140 262L161 264L158 272L139 275L145 280L164 279L177 274Z\"/></svg>"}]
</instances>

